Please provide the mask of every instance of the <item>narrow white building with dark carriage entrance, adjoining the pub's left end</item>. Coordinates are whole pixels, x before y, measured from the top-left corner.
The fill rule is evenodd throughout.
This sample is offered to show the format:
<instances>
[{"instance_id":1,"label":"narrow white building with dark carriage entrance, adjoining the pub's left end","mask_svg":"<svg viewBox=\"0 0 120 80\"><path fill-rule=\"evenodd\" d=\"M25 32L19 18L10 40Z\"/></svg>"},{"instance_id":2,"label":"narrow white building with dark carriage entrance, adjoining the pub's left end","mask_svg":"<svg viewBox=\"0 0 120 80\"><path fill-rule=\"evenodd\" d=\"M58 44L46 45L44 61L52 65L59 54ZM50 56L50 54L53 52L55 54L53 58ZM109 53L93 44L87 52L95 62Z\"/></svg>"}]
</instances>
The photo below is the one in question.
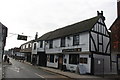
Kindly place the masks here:
<instances>
[{"instance_id":1,"label":"narrow white building with dark carriage entrance, adjoining the pub's left end","mask_svg":"<svg viewBox=\"0 0 120 80\"><path fill-rule=\"evenodd\" d=\"M39 66L46 66L47 64L47 55L45 53L45 44L46 39L49 37L50 33L46 33L43 36L39 37L33 42L32 46L32 59L35 58L33 64Z\"/></svg>"}]
</instances>

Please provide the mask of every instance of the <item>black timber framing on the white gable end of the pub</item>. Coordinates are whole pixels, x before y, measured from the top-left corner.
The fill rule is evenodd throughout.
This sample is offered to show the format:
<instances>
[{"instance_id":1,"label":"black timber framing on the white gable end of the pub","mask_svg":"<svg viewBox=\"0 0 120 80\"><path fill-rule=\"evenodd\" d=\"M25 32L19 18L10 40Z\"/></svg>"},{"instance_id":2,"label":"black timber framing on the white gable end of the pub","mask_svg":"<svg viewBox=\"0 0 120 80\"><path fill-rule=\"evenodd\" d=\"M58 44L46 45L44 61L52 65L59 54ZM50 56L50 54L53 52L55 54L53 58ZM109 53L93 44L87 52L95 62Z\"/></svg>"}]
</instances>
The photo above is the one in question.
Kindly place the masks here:
<instances>
[{"instance_id":1,"label":"black timber framing on the white gable end of the pub","mask_svg":"<svg viewBox=\"0 0 120 80\"><path fill-rule=\"evenodd\" d=\"M94 57L93 57L93 54L110 56L110 60L111 60L111 52L110 52L110 54L107 53L108 47L109 47L109 45L110 45L110 41L109 41L108 44L107 44L105 53L103 53L103 52L104 52L103 36L109 38L109 37L110 37L110 36L109 36L109 32L108 32L108 30L107 30L107 28L106 28L105 23L104 23L104 24L99 23L99 22L97 22L97 23L100 24L100 26L103 25L103 26L105 27L105 28L103 28L103 33L105 33L105 34L99 32L99 27L100 27L100 26L98 26L98 32L97 32L97 31L94 31L94 29L93 29L93 30L91 29L91 30L89 31L89 36L90 36L90 37L89 37L89 51L91 52L90 57L91 57L91 74L92 74L92 75L94 75ZM94 28L94 26L93 26L93 28ZM106 31L107 31L108 35L106 34ZM97 45L95 44L95 41L94 41L94 38L92 37L91 32L97 34L97 40L98 40ZM102 43L99 43L99 35L102 36ZM95 51L92 51L92 49L91 49L91 42L93 42L93 45L94 45L94 47L95 47ZM99 45L102 45L102 52L99 52ZM98 47L98 49L97 49L97 47ZM111 51L111 46L110 46L110 51ZM111 61L110 61L110 67L111 67L111 66L112 66L112 65L111 65Z\"/></svg>"}]
</instances>

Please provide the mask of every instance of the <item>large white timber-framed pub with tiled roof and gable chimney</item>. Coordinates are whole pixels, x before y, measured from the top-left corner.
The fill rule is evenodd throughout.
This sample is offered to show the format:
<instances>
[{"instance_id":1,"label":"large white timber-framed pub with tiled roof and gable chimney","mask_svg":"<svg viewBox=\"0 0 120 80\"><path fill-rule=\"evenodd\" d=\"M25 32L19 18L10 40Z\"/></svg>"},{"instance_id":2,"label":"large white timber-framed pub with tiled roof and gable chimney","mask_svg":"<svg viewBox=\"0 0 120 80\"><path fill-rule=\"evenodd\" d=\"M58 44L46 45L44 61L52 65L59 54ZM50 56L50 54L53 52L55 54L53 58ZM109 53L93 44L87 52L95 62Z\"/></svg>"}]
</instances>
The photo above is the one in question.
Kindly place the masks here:
<instances>
[{"instance_id":1,"label":"large white timber-framed pub with tiled roof and gable chimney","mask_svg":"<svg viewBox=\"0 0 120 80\"><path fill-rule=\"evenodd\" d=\"M46 33L47 66L81 73L110 73L110 35L103 12L96 17Z\"/></svg>"}]
</instances>

